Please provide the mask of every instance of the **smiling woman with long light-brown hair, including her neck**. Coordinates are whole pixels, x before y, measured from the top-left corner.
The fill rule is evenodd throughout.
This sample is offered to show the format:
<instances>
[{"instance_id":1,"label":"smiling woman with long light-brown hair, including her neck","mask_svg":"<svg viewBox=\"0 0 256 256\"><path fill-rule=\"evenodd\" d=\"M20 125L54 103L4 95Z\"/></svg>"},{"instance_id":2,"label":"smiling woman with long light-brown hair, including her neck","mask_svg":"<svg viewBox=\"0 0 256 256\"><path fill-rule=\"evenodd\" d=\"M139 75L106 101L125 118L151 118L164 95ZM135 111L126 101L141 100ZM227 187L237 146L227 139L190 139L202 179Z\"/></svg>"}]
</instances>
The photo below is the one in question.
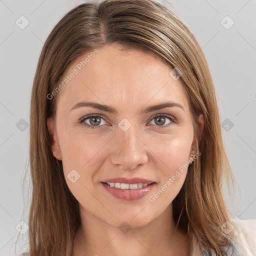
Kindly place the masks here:
<instances>
[{"instance_id":1,"label":"smiling woman with long light-brown hair, including her neck","mask_svg":"<svg viewBox=\"0 0 256 256\"><path fill-rule=\"evenodd\" d=\"M232 173L206 60L153 0L83 3L53 28L32 88L30 168L28 255L249 251L221 191Z\"/></svg>"}]
</instances>

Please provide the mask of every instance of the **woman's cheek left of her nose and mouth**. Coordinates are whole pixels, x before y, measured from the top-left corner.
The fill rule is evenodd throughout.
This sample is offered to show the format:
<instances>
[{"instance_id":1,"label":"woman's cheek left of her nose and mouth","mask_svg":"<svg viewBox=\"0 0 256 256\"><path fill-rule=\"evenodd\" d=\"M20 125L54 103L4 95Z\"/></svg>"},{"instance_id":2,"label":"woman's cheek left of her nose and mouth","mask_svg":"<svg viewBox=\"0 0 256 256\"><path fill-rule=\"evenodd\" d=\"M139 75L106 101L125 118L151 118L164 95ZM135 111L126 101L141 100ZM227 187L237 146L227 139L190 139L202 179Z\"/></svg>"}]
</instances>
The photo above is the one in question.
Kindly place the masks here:
<instances>
[{"instance_id":1,"label":"woman's cheek left of her nose and mouth","mask_svg":"<svg viewBox=\"0 0 256 256\"><path fill-rule=\"evenodd\" d=\"M103 137L84 132L62 137L61 155L65 180L71 193L82 205L95 205L95 175L105 160L103 149L109 140Z\"/></svg>"}]
</instances>

